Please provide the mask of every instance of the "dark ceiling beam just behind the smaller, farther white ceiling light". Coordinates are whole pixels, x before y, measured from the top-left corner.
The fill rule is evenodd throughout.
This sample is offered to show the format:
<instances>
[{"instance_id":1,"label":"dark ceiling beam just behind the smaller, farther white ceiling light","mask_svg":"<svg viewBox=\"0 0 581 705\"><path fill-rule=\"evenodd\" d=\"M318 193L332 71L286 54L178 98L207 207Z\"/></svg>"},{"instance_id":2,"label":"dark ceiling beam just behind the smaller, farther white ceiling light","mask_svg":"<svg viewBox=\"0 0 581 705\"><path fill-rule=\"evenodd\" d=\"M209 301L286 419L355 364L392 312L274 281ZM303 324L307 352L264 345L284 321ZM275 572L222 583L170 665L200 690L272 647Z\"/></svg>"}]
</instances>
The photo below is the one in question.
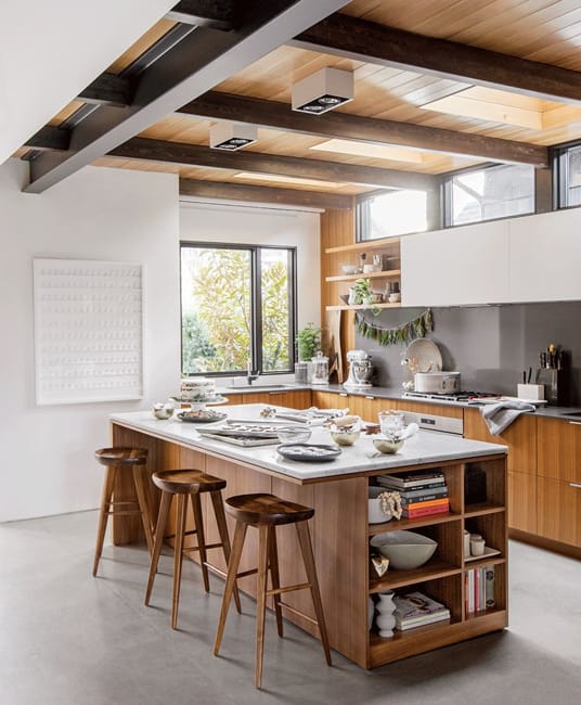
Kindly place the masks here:
<instances>
[{"instance_id":1,"label":"dark ceiling beam just behind the smaller, farther white ceiling light","mask_svg":"<svg viewBox=\"0 0 581 705\"><path fill-rule=\"evenodd\" d=\"M255 174L272 174L299 179L362 183L391 189L430 189L436 178L426 174L396 171L323 159L302 159L261 152L224 152L199 144L167 142L134 137L109 152L126 159L169 162L184 166L236 169Z\"/></svg>"}]
</instances>

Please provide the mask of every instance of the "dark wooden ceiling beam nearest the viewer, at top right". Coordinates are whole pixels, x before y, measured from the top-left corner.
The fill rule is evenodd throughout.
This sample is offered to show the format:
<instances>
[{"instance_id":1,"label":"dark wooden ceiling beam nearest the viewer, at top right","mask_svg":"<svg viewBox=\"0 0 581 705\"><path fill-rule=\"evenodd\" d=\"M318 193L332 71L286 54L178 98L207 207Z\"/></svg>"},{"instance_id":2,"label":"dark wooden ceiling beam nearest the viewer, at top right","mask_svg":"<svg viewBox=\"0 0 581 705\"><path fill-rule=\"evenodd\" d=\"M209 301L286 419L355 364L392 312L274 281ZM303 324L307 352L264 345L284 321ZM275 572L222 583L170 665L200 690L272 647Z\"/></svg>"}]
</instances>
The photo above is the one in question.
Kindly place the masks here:
<instances>
[{"instance_id":1,"label":"dark wooden ceiling beam nearest the viewer, at top right","mask_svg":"<svg viewBox=\"0 0 581 705\"><path fill-rule=\"evenodd\" d=\"M581 103L579 72L415 35L336 13L301 33L295 47L434 74L545 100Z\"/></svg>"}]
</instances>

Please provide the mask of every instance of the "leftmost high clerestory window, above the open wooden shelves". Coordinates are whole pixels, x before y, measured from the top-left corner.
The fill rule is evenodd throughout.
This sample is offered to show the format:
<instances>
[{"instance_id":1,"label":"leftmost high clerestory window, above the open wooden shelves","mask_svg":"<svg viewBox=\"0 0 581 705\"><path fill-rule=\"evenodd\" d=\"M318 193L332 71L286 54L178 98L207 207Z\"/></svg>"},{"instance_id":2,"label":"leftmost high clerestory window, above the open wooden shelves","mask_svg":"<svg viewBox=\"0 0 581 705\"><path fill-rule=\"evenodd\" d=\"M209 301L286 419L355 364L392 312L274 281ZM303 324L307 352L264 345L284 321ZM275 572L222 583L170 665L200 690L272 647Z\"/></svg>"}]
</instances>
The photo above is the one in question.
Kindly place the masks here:
<instances>
[{"instance_id":1,"label":"leftmost high clerestory window, above the open wooden shelves","mask_svg":"<svg viewBox=\"0 0 581 705\"><path fill-rule=\"evenodd\" d=\"M428 194L421 190L376 191L358 197L358 242L411 232L424 232L428 225Z\"/></svg>"}]
</instances>

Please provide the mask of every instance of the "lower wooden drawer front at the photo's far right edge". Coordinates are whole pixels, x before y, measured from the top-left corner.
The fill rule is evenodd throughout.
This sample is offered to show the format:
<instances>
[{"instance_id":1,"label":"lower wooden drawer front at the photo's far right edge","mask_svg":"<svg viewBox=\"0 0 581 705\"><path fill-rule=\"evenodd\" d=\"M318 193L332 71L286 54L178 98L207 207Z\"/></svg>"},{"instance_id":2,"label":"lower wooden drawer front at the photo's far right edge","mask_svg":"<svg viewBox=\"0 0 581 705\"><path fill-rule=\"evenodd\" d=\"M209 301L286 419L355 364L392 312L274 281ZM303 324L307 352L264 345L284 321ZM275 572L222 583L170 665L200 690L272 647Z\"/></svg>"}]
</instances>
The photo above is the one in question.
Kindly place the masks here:
<instances>
[{"instance_id":1,"label":"lower wooden drawer front at the photo's far right edge","mask_svg":"<svg viewBox=\"0 0 581 705\"><path fill-rule=\"evenodd\" d=\"M538 477L538 534L581 548L581 486Z\"/></svg>"}]
</instances>

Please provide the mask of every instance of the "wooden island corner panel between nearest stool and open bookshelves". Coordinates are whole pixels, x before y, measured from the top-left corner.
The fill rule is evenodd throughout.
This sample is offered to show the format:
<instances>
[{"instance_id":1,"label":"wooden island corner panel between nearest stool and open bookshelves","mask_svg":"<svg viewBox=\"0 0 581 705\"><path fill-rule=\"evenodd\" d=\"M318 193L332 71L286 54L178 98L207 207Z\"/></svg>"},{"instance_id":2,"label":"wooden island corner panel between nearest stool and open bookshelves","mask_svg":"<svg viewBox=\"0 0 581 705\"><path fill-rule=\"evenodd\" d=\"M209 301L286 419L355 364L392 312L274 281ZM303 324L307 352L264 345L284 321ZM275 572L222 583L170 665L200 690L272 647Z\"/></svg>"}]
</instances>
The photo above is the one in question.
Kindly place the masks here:
<instances>
[{"instance_id":1,"label":"wooden island corner panel between nearest stool and open bookshelves","mask_svg":"<svg viewBox=\"0 0 581 705\"><path fill-rule=\"evenodd\" d=\"M314 486L314 553L330 642L363 668L369 649L366 501L366 477Z\"/></svg>"}]
</instances>

